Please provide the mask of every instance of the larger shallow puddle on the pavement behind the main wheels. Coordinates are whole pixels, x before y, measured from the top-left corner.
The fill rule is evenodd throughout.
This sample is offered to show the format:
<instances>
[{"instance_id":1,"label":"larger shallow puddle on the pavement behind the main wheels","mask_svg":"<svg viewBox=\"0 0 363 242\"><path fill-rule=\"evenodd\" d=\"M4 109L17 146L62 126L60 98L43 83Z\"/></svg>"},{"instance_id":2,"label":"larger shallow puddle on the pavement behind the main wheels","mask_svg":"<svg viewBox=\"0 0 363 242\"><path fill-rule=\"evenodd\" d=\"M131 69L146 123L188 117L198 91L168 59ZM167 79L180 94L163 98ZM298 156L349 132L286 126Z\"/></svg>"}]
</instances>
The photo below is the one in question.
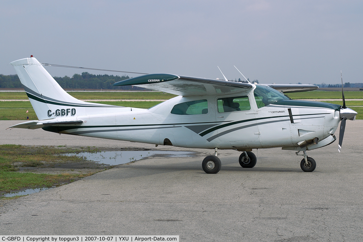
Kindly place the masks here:
<instances>
[{"instance_id":1,"label":"larger shallow puddle on the pavement behind the main wheels","mask_svg":"<svg viewBox=\"0 0 363 242\"><path fill-rule=\"evenodd\" d=\"M97 153L69 153L68 156L76 155L86 157L98 163L107 165L120 165L131 161L141 160L148 156L154 157L191 157L194 152L188 151L103 151Z\"/></svg>"}]
</instances>

